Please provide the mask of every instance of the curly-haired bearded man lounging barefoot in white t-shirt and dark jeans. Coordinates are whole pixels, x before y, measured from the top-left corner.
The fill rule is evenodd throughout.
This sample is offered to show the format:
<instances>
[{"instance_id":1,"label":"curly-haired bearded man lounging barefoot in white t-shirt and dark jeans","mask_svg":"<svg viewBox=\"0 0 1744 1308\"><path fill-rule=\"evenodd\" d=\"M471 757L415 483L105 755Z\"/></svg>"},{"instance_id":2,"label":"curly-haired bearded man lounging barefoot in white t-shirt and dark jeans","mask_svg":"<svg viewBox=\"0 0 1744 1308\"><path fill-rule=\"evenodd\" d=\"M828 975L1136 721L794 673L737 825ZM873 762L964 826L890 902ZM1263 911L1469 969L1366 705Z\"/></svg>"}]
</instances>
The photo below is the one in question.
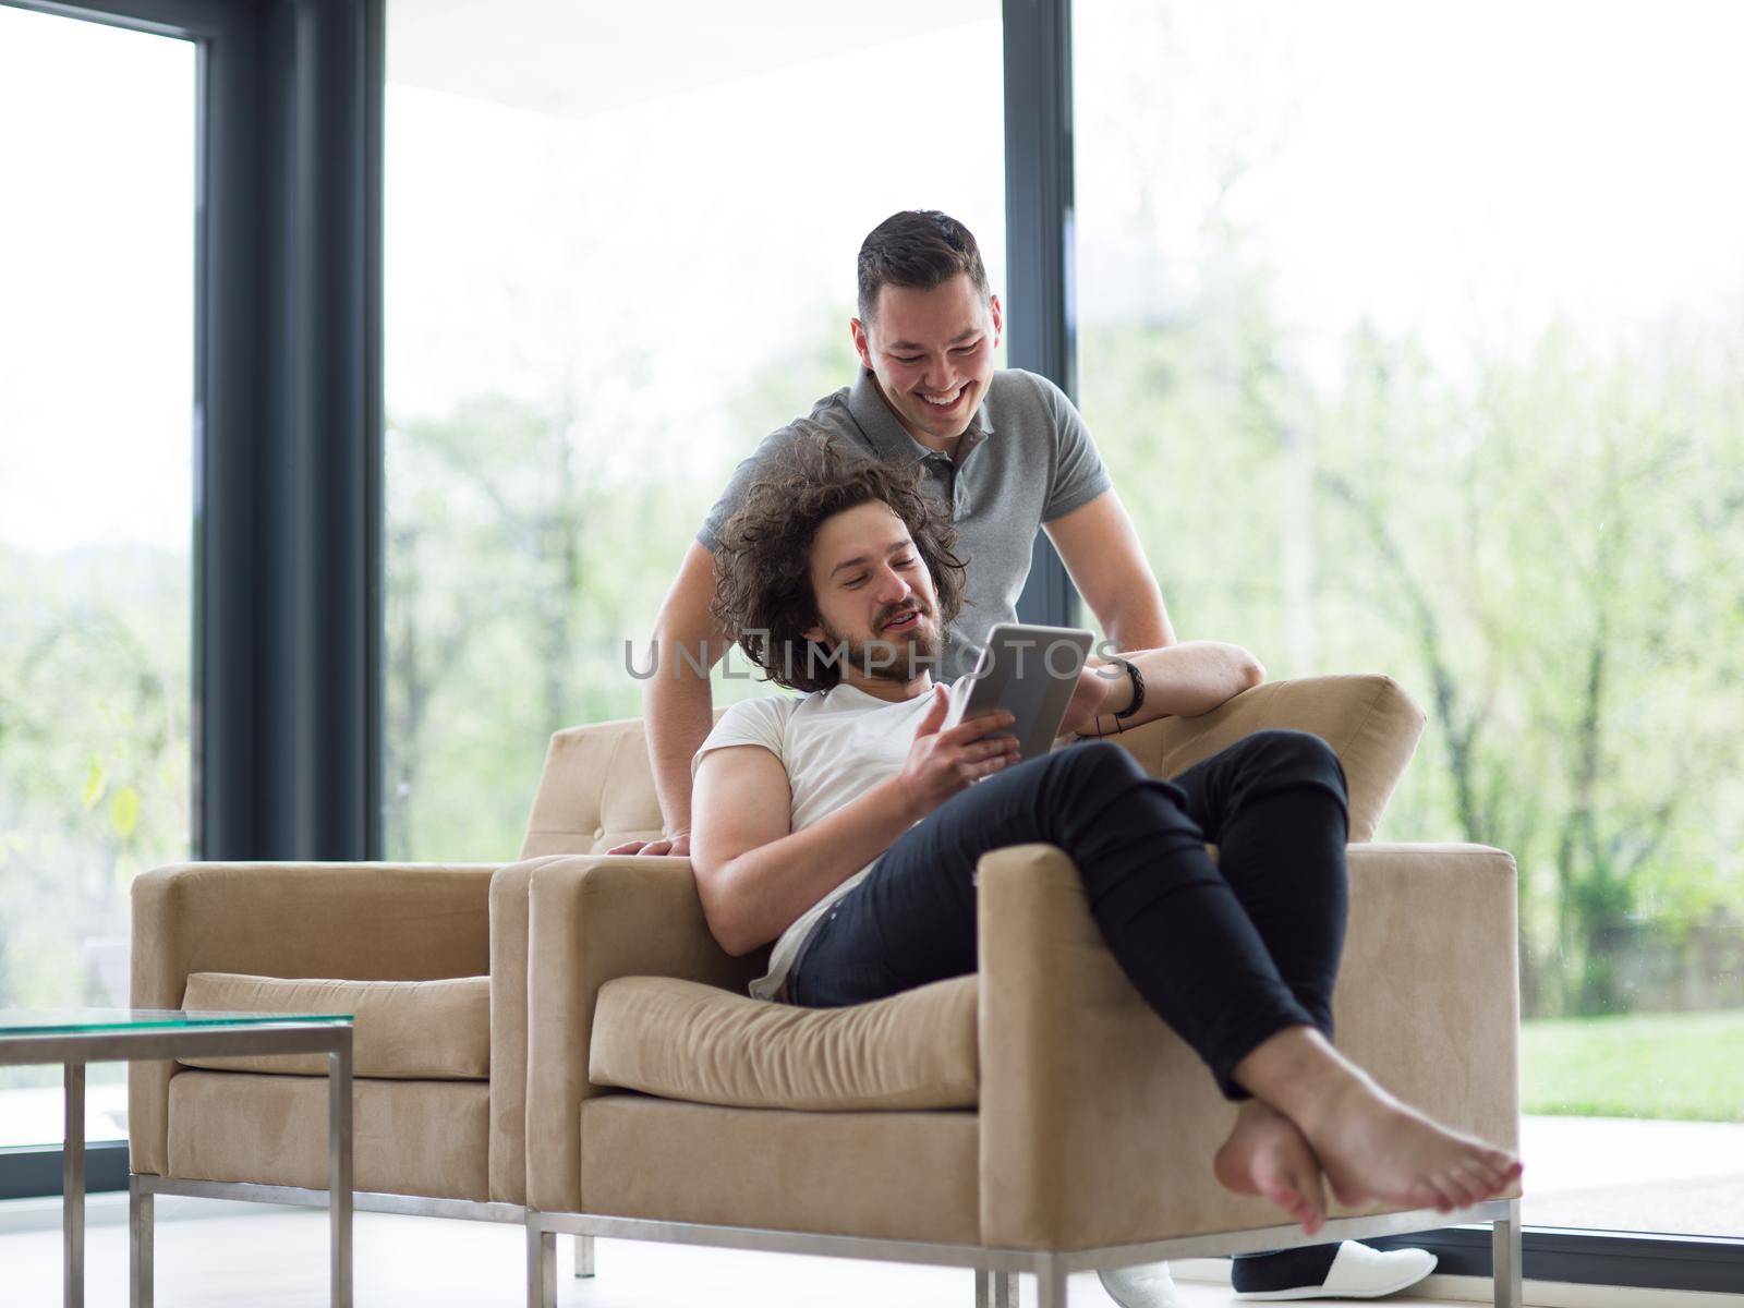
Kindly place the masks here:
<instances>
[{"instance_id":1,"label":"curly-haired bearded man lounging barefoot in white t-shirt and dark jeans","mask_svg":"<svg viewBox=\"0 0 1744 1308\"><path fill-rule=\"evenodd\" d=\"M722 537L717 616L804 692L734 705L694 764L710 931L731 954L776 942L753 994L853 1005L970 973L977 860L1057 844L1134 987L1240 1104L1216 1156L1224 1186L1308 1233L1327 1182L1345 1203L1441 1212L1500 1193L1521 1170L1509 1153L1430 1121L1332 1046L1346 797L1331 748L1264 731L1158 781L1106 741L1015 762L1003 713L942 731L930 661L961 596L952 544L907 474L842 467L825 443L760 481ZM1209 642L1132 663L1087 670L1066 729L1203 713L1264 675Z\"/></svg>"}]
</instances>

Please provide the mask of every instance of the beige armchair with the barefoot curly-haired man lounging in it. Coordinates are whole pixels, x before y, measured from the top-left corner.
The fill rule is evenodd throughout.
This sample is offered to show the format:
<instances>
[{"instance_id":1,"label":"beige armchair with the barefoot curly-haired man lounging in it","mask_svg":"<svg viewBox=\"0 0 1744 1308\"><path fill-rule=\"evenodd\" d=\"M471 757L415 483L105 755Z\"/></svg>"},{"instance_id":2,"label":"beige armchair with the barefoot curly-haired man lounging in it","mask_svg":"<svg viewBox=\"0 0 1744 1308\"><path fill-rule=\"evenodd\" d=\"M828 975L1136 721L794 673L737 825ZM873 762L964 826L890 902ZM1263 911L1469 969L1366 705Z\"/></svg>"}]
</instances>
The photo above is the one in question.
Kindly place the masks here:
<instances>
[{"instance_id":1,"label":"beige armchair with the barefoot curly-haired man lounging in it","mask_svg":"<svg viewBox=\"0 0 1744 1308\"><path fill-rule=\"evenodd\" d=\"M1275 682L1120 736L1179 773L1259 727L1325 738L1352 790L1339 1043L1441 1120L1517 1144L1516 874L1477 846L1371 844L1423 717L1383 677ZM528 888L528 1303L555 1236L682 1240L952 1264L982 1303L1041 1308L1071 1271L1310 1243L1210 1156L1233 1109L1104 947L1050 846L989 855L980 971L848 1010L745 998L766 956L712 937L687 860L600 851L659 813L637 722L551 743ZM569 856L565 856L569 855ZM1512 1196L1458 1217L1336 1212L1317 1240L1495 1223L1519 1303Z\"/></svg>"}]
</instances>

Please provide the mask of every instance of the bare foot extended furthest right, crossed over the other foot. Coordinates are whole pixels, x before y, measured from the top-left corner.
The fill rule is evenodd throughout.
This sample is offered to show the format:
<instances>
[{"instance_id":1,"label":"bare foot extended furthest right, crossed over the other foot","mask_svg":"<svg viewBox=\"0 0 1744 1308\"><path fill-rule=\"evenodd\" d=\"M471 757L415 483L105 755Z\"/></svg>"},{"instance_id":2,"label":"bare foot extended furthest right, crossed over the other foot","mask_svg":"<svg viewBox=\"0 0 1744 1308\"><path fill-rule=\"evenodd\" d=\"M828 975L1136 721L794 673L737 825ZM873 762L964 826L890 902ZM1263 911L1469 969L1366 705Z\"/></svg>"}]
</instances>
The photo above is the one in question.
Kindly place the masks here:
<instances>
[{"instance_id":1,"label":"bare foot extended furthest right, crossed over the other foot","mask_svg":"<svg viewBox=\"0 0 1744 1308\"><path fill-rule=\"evenodd\" d=\"M1339 1081L1296 1114L1339 1203L1453 1212L1500 1195L1521 1174L1514 1155L1432 1121L1360 1071Z\"/></svg>"}]
</instances>

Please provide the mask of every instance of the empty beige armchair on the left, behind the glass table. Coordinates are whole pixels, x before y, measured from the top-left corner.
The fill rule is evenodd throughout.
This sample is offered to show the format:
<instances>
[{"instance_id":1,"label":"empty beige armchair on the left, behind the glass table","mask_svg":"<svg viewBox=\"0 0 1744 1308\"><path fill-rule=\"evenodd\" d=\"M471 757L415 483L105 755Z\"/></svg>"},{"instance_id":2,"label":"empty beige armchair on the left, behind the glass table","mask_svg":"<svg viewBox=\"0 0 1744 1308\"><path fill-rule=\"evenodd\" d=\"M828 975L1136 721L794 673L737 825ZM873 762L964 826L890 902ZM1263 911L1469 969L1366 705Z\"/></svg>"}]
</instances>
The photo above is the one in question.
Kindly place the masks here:
<instances>
[{"instance_id":1,"label":"empty beige armchair on the left, behind the glass table","mask_svg":"<svg viewBox=\"0 0 1744 1308\"><path fill-rule=\"evenodd\" d=\"M495 874L392 863L146 872L133 888L133 1003L354 1013L359 1207L518 1223L525 935L492 931ZM295 1202L235 1186L326 1188L316 1059L136 1062L127 1128L136 1195Z\"/></svg>"}]
</instances>

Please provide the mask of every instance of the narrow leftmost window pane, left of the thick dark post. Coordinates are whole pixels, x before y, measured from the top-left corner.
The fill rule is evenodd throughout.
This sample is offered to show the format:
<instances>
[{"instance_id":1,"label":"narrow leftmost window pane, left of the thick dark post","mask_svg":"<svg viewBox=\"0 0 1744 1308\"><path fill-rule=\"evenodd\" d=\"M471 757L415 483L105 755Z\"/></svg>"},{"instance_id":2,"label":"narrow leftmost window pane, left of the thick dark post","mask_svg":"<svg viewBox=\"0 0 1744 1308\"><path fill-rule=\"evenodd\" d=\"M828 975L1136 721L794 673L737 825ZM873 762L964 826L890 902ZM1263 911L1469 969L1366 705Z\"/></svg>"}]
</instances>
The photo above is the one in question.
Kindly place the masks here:
<instances>
[{"instance_id":1,"label":"narrow leftmost window pane, left of the thick dark post","mask_svg":"<svg viewBox=\"0 0 1744 1308\"><path fill-rule=\"evenodd\" d=\"M195 59L0 5L0 1005L127 1003L127 886L190 853ZM61 1139L0 1071L0 1146ZM87 1130L122 1134L120 1067Z\"/></svg>"}]
</instances>

